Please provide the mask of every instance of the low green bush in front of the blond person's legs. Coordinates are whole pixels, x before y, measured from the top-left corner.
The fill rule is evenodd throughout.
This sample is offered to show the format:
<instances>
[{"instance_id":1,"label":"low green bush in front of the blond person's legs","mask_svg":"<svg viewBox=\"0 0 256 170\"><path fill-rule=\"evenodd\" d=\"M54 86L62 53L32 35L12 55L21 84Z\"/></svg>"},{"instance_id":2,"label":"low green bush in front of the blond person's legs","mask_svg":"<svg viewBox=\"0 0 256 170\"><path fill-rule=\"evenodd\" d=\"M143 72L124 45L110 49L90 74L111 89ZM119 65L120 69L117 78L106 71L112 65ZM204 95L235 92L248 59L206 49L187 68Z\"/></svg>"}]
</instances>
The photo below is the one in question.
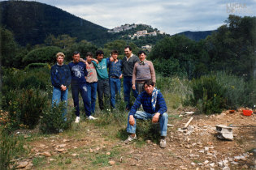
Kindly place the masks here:
<instances>
[{"instance_id":1,"label":"low green bush in front of the blond person's legs","mask_svg":"<svg viewBox=\"0 0 256 170\"><path fill-rule=\"evenodd\" d=\"M63 117L64 107L64 103L60 102L59 105L54 105L53 108L49 106L42 113L40 130L44 134L59 133L59 130L67 130L71 127L71 115L67 113L67 115ZM64 119L67 121L64 121Z\"/></svg>"}]
</instances>

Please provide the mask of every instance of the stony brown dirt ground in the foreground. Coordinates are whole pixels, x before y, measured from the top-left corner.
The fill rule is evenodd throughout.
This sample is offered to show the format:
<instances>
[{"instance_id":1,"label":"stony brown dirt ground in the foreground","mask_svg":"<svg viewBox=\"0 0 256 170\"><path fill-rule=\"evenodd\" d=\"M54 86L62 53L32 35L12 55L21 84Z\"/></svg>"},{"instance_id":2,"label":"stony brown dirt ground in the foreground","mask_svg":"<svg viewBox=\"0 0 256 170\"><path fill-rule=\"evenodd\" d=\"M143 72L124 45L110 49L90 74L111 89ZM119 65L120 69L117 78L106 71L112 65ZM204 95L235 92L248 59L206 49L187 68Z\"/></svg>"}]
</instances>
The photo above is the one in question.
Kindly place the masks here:
<instances>
[{"instance_id":1,"label":"stony brown dirt ground in the foreground","mask_svg":"<svg viewBox=\"0 0 256 170\"><path fill-rule=\"evenodd\" d=\"M242 109L210 116L168 113L178 118L169 117L173 126L168 127L165 149L150 140L125 145L90 124L76 133L29 140L29 157L17 163L28 163L27 169L256 169L256 115L246 117ZM189 128L182 130L190 117ZM231 125L233 140L217 138L215 125Z\"/></svg>"}]
</instances>

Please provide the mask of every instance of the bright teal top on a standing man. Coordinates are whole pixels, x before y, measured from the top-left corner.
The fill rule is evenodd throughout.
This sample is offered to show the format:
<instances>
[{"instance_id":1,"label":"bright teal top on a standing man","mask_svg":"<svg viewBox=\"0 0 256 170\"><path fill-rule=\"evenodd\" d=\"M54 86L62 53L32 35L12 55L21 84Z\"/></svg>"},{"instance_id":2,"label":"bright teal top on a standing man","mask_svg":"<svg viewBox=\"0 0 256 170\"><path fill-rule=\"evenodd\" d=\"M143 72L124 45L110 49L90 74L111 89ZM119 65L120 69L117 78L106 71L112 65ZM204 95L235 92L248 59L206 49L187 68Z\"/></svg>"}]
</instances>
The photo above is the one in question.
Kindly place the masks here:
<instances>
[{"instance_id":1,"label":"bright teal top on a standing man","mask_svg":"<svg viewBox=\"0 0 256 170\"><path fill-rule=\"evenodd\" d=\"M98 62L98 64L93 61L93 65L98 74L98 80L108 79L107 66L109 65L109 62L109 58L103 58L102 62Z\"/></svg>"}]
</instances>

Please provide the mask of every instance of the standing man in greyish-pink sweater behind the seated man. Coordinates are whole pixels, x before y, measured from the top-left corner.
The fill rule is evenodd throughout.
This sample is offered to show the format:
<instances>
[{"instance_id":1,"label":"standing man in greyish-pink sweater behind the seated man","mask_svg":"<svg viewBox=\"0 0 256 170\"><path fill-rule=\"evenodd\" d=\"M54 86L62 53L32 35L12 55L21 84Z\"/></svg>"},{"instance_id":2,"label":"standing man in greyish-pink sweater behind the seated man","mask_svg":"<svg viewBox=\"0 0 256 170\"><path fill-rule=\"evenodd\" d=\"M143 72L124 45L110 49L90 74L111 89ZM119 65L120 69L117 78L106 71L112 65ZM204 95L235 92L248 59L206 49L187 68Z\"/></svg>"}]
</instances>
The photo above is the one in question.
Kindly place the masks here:
<instances>
[{"instance_id":1,"label":"standing man in greyish-pink sweater behind the seated man","mask_svg":"<svg viewBox=\"0 0 256 170\"><path fill-rule=\"evenodd\" d=\"M145 59L145 51L140 51L138 56L140 58L140 62L137 62L134 65L132 74L132 89L136 89L140 94L142 91L144 91L143 84L146 80L151 79L154 84L156 83L156 80L153 63Z\"/></svg>"}]
</instances>

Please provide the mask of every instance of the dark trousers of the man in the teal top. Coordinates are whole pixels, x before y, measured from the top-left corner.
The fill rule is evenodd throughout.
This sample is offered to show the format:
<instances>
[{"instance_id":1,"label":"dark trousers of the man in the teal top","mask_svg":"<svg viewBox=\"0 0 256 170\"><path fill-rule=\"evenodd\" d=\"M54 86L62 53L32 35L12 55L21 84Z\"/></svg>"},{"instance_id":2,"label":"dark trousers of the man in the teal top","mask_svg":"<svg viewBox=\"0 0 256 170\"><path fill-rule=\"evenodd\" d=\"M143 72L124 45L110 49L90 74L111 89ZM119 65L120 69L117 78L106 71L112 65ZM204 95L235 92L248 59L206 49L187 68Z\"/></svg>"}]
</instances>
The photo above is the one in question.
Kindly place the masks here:
<instances>
[{"instance_id":1,"label":"dark trousers of the man in the teal top","mask_svg":"<svg viewBox=\"0 0 256 170\"><path fill-rule=\"evenodd\" d=\"M103 97L107 104L109 104L110 102L111 92L110 92L109 79L98 80L97 91L98 91L98 105L99 105L99 108L102 110L104 109Z\"/></svg>"}]
</instances>

